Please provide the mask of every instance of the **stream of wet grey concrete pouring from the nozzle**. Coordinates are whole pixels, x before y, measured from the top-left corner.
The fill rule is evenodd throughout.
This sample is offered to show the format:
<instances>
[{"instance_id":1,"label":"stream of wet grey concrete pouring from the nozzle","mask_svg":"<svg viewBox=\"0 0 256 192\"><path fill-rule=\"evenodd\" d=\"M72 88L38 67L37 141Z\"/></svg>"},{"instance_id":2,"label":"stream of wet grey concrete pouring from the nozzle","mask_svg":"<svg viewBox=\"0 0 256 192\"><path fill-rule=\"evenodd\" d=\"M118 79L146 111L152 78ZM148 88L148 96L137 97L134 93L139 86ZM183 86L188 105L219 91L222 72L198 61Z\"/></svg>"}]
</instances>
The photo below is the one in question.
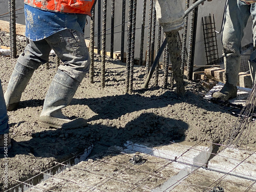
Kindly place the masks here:
<instances>
[{"instance_id":1,"label":"stream of wet grey concrete pouring from the nozzle","mask_svg":"<svg viewBox=\"0 0 256 192\"><path fill-rule=\"evenodd\" d=\"M172 69L174 79L176 81L177 94L181 97L185 95L184 81L181 73L181 51L178 44L178 31L166 32L167 45L169 50L170 61L172 62Z\"/></svg>"}]
</instances>

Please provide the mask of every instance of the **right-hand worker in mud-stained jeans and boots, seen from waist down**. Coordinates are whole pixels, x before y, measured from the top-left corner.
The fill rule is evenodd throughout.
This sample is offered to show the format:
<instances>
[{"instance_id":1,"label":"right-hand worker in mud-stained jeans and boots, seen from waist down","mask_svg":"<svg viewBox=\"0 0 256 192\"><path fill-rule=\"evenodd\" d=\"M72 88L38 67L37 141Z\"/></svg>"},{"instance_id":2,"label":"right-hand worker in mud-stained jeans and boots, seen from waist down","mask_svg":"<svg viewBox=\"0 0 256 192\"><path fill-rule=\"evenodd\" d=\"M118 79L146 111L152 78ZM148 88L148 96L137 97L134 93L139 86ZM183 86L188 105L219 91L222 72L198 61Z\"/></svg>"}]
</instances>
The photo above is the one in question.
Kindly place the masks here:
<instances>
[{"instance_id":1,"label":"right-hand worker in mud-stained jeans and boots, seen from waist down","mask_svg":"<svg viewBox=\"0 0 256 192\"><path fill-rule=\"evenodd\" d=\"M256 46L256 1L227 0L222 29L222 45L226 82L220 92L212 97L228 100L237 97L237 82L241 63L241 40L244 36L249 16L252 16L253 46ZM256 52L250 56L249 68L254 83L256 72Z\"/></svg>"}]
</instances>

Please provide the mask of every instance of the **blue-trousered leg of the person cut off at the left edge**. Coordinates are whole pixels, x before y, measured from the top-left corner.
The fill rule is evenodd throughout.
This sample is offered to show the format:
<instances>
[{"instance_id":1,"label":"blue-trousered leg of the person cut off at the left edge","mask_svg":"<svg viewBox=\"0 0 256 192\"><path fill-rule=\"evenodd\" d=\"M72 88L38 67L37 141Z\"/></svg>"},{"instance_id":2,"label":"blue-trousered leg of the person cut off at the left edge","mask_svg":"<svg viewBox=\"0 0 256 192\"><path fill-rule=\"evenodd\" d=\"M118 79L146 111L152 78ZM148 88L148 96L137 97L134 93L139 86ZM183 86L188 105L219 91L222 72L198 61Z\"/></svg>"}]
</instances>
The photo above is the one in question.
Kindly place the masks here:
<instances>
[{"instance_id":1,"label":"blue-trousered leg of the person cut off at the left edge","mask_svg":"<svg viewBox=\"0 0 256 192\"><path fill-rule=\"evenodd\" d=\"M11 147L11 139L9 137L8 115L6 111L4 93L0 79L0 152L4 152Z\"/></svg>"}]
</instances>

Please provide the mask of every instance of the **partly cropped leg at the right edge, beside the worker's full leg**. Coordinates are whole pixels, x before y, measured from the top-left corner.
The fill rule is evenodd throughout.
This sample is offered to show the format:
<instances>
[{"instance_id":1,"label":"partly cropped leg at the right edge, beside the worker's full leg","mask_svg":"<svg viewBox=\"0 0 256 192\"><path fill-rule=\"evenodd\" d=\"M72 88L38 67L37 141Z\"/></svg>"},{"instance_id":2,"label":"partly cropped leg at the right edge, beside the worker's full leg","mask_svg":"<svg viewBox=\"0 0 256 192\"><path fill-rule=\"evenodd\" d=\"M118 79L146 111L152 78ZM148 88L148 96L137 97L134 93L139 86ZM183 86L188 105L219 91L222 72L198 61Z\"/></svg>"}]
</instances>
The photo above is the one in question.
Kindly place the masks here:
<instances>
[{"instance_id":1,"label":"partly cropped leg at the right edge, beside the worker's full leg","mask_svg":"<svg viewBox=\"0 0 256 192\"><path fill-rule=\"evenodd\" d=\"M252 79L252 84L255 84L256 77L256 4L251 4L251 18L252 18L252 34L253 34L253 47L254 50L250 56L249 68Z\"/></svg>"}]
</instances>

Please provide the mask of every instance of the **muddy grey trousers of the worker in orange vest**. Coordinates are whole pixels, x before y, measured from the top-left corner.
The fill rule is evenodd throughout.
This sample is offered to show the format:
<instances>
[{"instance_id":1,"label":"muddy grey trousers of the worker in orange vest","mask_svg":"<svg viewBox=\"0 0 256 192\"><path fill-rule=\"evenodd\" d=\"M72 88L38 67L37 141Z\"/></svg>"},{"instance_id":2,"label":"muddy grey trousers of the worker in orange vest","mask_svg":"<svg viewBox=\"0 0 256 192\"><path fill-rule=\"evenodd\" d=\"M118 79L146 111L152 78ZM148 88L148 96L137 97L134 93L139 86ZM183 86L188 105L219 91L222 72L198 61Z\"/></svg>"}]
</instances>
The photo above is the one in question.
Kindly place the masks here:
<instances>
[{"instance_id":1,"label":"muddy grey trousers of the worker in orange vest","mask_svg":"<svg viewBox=\"0 0 256 192\"><path fill-rule=\"evenodd\" d=\"M63 62L58 69L81 82L90 69L91 60L83 34L73 29L59 31L42 40L29 40L17 62L36 70L49 60L51 49Z\"/></svg>"}]
</instances>

